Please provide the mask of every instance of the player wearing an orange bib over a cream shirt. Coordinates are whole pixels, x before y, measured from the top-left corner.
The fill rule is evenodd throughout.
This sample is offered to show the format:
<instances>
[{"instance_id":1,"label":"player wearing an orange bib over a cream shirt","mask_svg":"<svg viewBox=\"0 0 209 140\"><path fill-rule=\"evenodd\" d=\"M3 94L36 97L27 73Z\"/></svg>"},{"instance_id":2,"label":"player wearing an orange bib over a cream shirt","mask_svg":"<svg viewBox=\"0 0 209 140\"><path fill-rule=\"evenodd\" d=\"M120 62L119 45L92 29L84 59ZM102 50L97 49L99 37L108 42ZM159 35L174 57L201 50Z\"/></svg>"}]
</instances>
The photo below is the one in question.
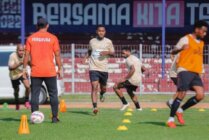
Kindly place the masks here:
<instances>
[{"instance_id":1,"label":"player wearing an orange bib over a cream shirt","mask_svg":"<svg viewBox=\"0 0 209 140\"><path fill-rule=\"evenodd\" d=\"M204 98L204 89L200 74L203 72L204 42L202 39L206 36L207 30L208 24L205 21L197 21L194 25L193 33L181 38L172 51L172 54L179 53L179 60L177 62L178 95L173 101L170 117L167 122L170 128L176 127L174 122L175 115L179 123L184 125L183 112ZM194 89L196 95L191 97L179 108L181 101L186 95L186 91L191 87Z\"/></svg>"}]
</instances>

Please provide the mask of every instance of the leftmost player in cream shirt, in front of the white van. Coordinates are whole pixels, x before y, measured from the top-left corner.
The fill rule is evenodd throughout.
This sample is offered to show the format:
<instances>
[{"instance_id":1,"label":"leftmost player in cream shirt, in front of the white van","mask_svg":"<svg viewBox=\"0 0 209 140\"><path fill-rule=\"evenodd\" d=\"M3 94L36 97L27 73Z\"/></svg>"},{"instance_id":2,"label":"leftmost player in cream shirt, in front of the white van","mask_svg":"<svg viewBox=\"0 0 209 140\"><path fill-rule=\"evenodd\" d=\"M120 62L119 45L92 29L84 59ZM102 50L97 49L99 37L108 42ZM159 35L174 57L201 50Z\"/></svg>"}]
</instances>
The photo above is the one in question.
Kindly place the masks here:
<instances>
[{"instance_id":1,"label":"leftmost player in cream shirt, in front of the white van","mask_svg":"<svg viewBox=\"0 0 209 140\"><path fill-rule=\"evenodd\" d=\"M26 75L23 75L23 57L24 57L24 46L21 44L17 45L16 52L13 52L9 56L9 75L12 82L12 87L14 89L14 97L15 97L15 104L16 104L16 110L20 109L19 105L19 85L20 81L25 86L25 107L27 109L30 108L29 103L29 93L30 93L30 83L28 80L28 77Z\"/></svg>"}]
</instances>

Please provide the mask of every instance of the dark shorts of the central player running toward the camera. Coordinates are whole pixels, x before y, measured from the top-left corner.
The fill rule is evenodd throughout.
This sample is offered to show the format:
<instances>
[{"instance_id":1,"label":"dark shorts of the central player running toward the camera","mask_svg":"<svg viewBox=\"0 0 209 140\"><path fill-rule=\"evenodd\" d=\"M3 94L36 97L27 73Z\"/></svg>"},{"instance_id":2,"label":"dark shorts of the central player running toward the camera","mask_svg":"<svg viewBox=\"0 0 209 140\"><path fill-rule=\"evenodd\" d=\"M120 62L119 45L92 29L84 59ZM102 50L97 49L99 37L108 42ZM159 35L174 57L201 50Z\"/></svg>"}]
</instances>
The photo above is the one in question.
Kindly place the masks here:
<instances>
[{"instance_id":1,"label":"dark shorts of the central player running toward the camera","mask_svg":"<svg viewBox=\"0 0 209 140\"><path fill-rule=\"evenodd\" d=\"M101 71L89 71L89 77L91 82L99 81L99 83L103 86L107 85L108 73Z\"/></svg>"}]
</instances>

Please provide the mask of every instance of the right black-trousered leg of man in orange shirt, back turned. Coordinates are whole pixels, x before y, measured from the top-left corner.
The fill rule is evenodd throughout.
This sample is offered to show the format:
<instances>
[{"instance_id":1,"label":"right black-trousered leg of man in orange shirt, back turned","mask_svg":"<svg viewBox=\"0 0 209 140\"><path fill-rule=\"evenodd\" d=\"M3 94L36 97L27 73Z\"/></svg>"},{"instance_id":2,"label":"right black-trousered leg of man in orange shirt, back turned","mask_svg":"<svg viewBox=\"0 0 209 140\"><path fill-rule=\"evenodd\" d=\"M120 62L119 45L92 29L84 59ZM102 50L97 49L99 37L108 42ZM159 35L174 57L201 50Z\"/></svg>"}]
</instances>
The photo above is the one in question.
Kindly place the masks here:
<instances>
[{"instance_id":1,"label":"right black-trousered leg of man in orange shirt, back turned","mask_svg":"<svg viewBox=\"0 0 209 140\"><path fill-rule=\"evenodd\" d=\"M47 77L44 78L44 82L47 86L47 90L50 97L50 105L52 110L52 123L59 122L58 119L58 90L57 90L57 78L55 77Z\"/></svg>"}]
</instances>

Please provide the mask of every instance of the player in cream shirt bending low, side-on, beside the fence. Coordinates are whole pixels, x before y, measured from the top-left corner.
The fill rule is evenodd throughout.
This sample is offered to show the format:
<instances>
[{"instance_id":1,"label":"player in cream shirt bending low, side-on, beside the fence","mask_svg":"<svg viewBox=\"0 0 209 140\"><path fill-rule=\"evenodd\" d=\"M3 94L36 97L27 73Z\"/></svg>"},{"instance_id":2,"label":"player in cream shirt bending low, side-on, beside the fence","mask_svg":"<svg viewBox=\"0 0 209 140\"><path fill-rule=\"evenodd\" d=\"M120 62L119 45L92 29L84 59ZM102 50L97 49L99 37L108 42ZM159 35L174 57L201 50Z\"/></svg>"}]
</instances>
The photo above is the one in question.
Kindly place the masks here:
<instances>
[{"instance_id":1,"label":"player in cream shirt bending low, side-on, beside the fence","mask_svg":"<svg viewBox=\"0 0 209 140\"><path fill-rule=\"evenodd\" d=\"M129 106L129 103L126 101L121 90L122 88L125 88L132 101L134 102L136 109L141 111L142 108L139 105L137 96L134 94L134 91L136 91L141 82L141 75L142 72L145 71L145 68L142 66L141 61L136 56L131 54L131 49L129 47L122 48L122 56L126 58L126 65L129 72L113 87L115 93L118 95L123 104L120 110L123 111Z\"/></svg>"}]
</instances>

